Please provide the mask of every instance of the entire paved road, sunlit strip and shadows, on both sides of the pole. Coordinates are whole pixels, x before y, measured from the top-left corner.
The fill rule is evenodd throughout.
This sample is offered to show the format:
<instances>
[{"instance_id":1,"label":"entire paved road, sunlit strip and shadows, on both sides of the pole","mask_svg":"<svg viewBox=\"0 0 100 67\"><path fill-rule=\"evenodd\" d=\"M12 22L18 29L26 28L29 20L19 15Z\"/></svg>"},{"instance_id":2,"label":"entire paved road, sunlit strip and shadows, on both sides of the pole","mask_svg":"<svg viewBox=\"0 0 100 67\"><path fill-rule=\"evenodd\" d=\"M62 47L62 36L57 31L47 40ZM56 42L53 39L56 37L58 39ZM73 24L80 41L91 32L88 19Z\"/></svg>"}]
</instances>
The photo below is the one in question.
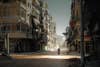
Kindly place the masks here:
<instances>
[{"instance_id":1,"label":"entire paved road, sunlit strip and shadows, on both sides of the pole","mask_svg":"<svg viewBox=\"0 0 100 67\"><path fill-rule=\"evenodd\" d=\"M88 61L85 67L99 67L100 61ZM80 56L77 53L57 55L55 52L0 55L0 67L80 67Z\"/></svg>"}]
</instances>

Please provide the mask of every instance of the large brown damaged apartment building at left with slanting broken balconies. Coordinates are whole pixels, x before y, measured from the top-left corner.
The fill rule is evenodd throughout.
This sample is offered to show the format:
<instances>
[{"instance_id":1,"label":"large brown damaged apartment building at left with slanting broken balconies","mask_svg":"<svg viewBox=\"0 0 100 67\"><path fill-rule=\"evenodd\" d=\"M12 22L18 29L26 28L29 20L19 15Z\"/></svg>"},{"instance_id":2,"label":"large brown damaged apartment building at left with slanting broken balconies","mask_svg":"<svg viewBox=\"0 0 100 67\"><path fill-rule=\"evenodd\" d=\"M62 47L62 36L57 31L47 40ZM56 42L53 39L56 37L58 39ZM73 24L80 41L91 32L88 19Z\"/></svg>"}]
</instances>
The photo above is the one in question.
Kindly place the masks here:
<instances>
[{"instance_id":1,"label":"large brown damaged apartment building at left with slanting broken balconies","mask_svg":"<svg viewBox=\"0 0 100 67\"><path fill-rule=\"evenodd\" d=\"M37 39L40 20L34 7L37 5L40 7L38 0L0 0L1 50L9 47L10 52L23 52L35 48L32 41Z\"/></svg>"}]
</instances>

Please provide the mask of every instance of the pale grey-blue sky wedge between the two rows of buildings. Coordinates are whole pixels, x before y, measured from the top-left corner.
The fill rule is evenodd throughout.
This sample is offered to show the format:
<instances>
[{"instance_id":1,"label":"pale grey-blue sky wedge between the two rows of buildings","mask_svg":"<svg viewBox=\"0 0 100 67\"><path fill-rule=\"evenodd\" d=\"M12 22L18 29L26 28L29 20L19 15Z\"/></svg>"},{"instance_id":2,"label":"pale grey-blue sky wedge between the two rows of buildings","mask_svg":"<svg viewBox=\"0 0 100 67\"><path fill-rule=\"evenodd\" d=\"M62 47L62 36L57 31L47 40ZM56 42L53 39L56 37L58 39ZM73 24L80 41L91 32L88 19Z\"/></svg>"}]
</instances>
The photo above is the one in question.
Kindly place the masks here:
<instances>
[{"instance_id":1,"label":"pale grey-blue sky wedge between the two rows of buildings","mask_svg":"<svg viewBox=\"0 0 100 67\"><path fill-rule=\"evenodd\" d=\"M46 0L48 9L53 20L56 22L56 33L63 35L66 27L69 25L71 14L71 0Z\"/></svg>"}]
</instances>

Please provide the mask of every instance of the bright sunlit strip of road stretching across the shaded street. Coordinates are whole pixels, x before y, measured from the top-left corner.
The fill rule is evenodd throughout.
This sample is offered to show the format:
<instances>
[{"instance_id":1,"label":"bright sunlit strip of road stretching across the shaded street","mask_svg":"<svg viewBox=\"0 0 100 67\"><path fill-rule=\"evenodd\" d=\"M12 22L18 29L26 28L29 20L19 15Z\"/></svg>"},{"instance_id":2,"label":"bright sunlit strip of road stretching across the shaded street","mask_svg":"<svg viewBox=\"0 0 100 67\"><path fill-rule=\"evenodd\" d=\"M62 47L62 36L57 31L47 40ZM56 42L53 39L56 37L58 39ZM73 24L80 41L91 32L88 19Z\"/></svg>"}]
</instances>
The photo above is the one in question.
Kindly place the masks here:
<instances>
[{"instance_id":1,"label":"bright sunlit strip of road stretching across the shaded street","mask_svg":"<svg viewBox=\"0 0 100 67\"><path fill-rule=\"evenodd\" d=\"M71 59L80 58L76 55L11 55L14 59Z\"/></svg>"}]
</instances>

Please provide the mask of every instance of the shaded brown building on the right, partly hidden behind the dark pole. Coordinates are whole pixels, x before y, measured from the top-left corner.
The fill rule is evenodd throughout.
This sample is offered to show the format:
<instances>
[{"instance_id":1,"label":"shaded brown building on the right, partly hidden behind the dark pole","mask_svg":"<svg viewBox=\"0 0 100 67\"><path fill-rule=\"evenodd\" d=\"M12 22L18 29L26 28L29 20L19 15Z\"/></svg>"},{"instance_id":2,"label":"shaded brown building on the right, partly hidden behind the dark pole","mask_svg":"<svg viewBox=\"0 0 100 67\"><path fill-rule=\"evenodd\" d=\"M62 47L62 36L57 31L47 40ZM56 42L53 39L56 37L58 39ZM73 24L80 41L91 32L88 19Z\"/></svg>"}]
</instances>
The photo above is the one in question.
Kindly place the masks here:
<instances>
[{"instance_id":1,"label":"shaded brown building on the right, partly hidden behind the dark pole","mask_svg":"<svg viewBox=\"0 0 100 67\"><path fill-rule=\"evenodd\" d=\"M84 23L84 50L85 53L91 53L93 49L92 38L90 34L88 33L87 25L89 23L88 21L88 14L87 14L87 8L82 6L84 10L82 10L82 16L83 16L83 23ZM80 0L72 0L71 4L71 18L69 22L71 35L69 37L69 44L70 47L74 46L73 51L80 52L80 41L81 41L81 7L80 7Z\"/></svg>"}]
</instances>

